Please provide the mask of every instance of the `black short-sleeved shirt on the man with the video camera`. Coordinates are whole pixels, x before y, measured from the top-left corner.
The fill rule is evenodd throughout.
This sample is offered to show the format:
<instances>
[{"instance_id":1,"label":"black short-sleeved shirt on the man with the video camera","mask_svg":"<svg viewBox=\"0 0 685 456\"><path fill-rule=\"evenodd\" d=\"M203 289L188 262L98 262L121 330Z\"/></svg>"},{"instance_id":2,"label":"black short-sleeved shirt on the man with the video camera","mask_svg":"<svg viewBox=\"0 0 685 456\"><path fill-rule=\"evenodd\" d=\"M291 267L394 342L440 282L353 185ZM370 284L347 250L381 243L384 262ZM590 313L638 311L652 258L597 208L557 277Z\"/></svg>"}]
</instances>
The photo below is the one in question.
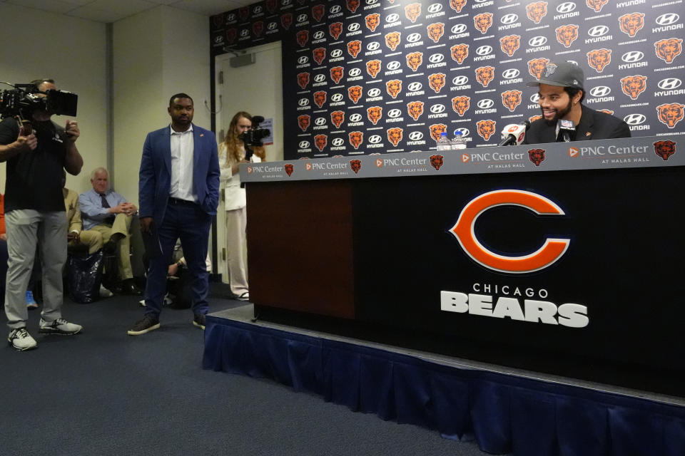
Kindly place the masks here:
<instances>
[{"instance_id":1,"label":"black short-sleeved shirt on the man with the video camera","mask_svg":"<svg viewBox=\"0 0 685 456\"><path fill-rule=\"evenodd\" d=\"M51 121L33 122L38 147L7 160L5 212L35 209L41 212L64 211L62 170L66 146L60 135L64 128ZM0 144L8 145L19 136L14 118L0 122Z\"/></svg>"}]
</instances>

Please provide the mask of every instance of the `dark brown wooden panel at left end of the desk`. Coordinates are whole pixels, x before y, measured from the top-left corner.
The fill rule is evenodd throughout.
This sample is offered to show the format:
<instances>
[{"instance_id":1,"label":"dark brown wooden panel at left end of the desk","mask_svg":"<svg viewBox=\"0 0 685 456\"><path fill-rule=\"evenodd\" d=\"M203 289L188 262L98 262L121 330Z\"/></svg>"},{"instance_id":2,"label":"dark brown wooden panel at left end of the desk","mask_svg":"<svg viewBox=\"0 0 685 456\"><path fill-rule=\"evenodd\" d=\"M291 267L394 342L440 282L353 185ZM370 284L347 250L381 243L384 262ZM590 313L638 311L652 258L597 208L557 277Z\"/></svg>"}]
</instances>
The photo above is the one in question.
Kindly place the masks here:
<instances>
[{"instance_id":1,"label":"dark brown wooden panel at left end of the desk","mask_svg":"<svg viewBox=\"0 0 685 456\"><path fill-rule=\"evenodd\" d=\"M355 318L350 182L246 188L250 301Z\"/></svg>"}]
</instances>

